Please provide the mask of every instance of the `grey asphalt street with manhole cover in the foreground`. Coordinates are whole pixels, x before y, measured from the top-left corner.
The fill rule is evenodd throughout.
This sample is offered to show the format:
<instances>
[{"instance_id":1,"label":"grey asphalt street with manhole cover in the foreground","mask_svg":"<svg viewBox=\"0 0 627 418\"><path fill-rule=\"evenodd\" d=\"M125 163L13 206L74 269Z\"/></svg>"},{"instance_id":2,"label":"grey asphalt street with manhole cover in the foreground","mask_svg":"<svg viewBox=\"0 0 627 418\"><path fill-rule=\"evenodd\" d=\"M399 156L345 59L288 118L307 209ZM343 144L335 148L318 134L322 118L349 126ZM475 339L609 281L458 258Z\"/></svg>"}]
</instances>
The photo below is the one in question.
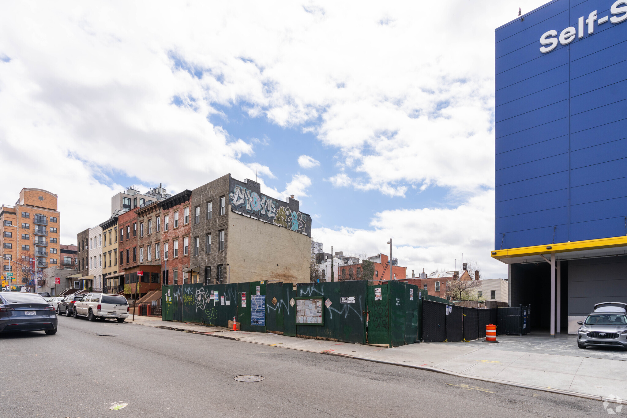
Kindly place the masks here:
<instances>
[{"instance_id":1,"label":"grey asphalt street with manhole cover in the foreground","mask_svg":"<svg viewBox=\"0 0 627 418\"><path fill-rule=\"evenodd\" d=\"M608 415L595 400L113 321L61 316L56 335L0 347L2 418Z\"/></svg>"}]
</instances>

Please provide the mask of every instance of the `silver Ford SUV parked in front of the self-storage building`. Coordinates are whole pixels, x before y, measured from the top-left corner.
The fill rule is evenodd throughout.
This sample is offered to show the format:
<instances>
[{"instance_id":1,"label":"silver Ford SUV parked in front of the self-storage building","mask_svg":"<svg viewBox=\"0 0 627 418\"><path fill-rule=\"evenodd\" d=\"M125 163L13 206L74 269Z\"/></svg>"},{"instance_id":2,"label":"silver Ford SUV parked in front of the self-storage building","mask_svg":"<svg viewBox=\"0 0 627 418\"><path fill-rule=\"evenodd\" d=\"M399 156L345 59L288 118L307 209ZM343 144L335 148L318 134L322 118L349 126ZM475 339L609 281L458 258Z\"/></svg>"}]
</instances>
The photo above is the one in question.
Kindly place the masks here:
<instances>
[{"instance_id":1,"label":"silver Ford SUV parked in front of the self-storage building","mask_svg":"<svg viewBox=\"0 0 627 418\"><path fill-rule=\"evenodd\" d=\"M627 303L604 302L594 305L594 312L585 321L577 322L579 338L577 346L627 348Z\"/></svg>"}]
</instances>

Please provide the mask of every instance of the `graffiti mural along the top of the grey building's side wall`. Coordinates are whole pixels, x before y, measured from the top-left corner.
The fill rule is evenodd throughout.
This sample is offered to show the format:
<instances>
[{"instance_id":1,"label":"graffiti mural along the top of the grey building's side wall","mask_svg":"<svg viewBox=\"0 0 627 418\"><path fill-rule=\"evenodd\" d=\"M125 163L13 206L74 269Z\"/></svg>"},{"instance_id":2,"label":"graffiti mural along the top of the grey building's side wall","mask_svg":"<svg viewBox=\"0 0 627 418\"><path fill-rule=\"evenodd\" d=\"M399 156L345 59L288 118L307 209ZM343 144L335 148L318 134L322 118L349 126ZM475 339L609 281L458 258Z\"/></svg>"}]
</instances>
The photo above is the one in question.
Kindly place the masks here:
<instances>
[{"instance_id":1,"label":"graffiti mural along the top of the grey building's side wall","mask_svg":"<svg viewBox=\"0 0 627 418\"><path fill-rule=\"evenodd\" d=\"M284 202L277 202L264 194L250 191L241 185L231 187L229 202L236 212L254 215L272 224L310 235L311 217L302 212L292 211Z\"/></svg>"}]
</instances>

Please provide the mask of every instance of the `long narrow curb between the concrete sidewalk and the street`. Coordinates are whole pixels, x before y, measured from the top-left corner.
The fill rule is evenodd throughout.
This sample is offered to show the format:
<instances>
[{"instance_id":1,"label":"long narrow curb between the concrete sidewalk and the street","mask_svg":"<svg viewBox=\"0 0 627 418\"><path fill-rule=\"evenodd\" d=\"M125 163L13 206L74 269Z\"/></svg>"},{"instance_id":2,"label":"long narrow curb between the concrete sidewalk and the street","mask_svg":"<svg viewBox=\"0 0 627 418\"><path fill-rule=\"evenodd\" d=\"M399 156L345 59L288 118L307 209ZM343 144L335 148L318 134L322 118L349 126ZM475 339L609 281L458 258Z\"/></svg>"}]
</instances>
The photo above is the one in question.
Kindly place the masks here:
<instances>
[{"instance_id":1,"label":"long narrow curb between the concrete sidewalk and the street","mask_svg":"<svg viewBox=\"0 0 627 418\"><path fill-rule=\"evenodd\" d=\"M135 324L135 325L143 325L143 324ZM245 343L267 345L267 344L264 344L264 343L240 340L240 338L237 338L237 337L226 337L226 335L214 335L214 334L211 334L211 333L204 333L204 332L198 332L198 331L184 330L182 328L165 327L163 325L161 325L159 327L154 327L154 328L162 328L164 330L172 330L172 331L189 332L189 333L194 333L194 334L199 334L199 335L206 335L207 337L224 338L226 340L241 341L241 342L245 342ZM273 346L273 347L277 347L277 346ZM496 384L501 384L501 385L520 387L522 389L540 390L541 392L549 392L549 393L552 393L552 394L567 395L567 396L573 396L573 397L579 397L579 398L591 399L591 400L599 400L601 402L608 401L608 402L611 402L611 403L614 403L614 404L617 403L616 399L614 399L614 398L608 398L608 397L599 396L599 395L587 395L587 394L582 394L582 393L579 393L579 392L571 392L570 390L552 389L552 388L543 387L543 386L534 386L534 385L525 385L525 384L520 384L520 383L515 383L515 382L507 382L507 380L490 379L489 377L479 377L479 376L465 375L465 374L461 374L461 373L457 373L457 372L451 372L450 370L445 370L443 368L437 368L437 367L416 366L416 365L411 365L411 364L387 362L386 360L376 360L374 358L359 357L359 356L355 356L355 355L334 353L334 352L315 352L315 351L308 351L308 350L300 350L299 348L291 348L291 347L279 347L279 348L287 348L288 350L297 350L297 351L302 351L302 352L307 352L307 353L319 353L319 354L326 354L326 355L334 355L336 357L345 357L345 358L352 358L354 360L363 360L364 362L373 362L373 363L388 364L388 365L400 366L400 367L416 368L418 370L425 370L427 372L435 372L435 373L451 375L451 376L456 376L456 377L464 377L466 379L481 380L482 382L490 382L490 383L496 383Z\"/></svg>"}]
</instances>

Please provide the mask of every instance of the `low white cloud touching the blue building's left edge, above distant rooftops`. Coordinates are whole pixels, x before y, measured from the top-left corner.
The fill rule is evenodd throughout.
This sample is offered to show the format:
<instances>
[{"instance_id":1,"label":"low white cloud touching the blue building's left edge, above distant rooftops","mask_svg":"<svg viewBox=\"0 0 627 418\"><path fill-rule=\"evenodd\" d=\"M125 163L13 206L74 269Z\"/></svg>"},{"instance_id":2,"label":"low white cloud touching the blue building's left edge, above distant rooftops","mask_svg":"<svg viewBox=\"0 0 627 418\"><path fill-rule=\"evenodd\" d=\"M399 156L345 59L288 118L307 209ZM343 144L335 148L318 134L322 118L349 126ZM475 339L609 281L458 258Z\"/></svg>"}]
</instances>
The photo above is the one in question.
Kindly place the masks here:
<instances>
[{"instance_id":1,"label":"low white cloud touching the blue building's left edge, above distant rooftops","mask_svg":"<svg viewBox=\"0 0 627 418\"><path fill-rule=\"evenodd\" d=\"M389 254L386 244L393 239L393 256L401 266L416 273L460 268L461 257L477 260L483 278L506 278L507 267L491 259L494 225L487 214L494 211L494 192L472 197L454 209L397 209L377 213L372 229L316 228L312 236L324 243L325 251L372 256Z\"/></svg>"}]
</instances>

